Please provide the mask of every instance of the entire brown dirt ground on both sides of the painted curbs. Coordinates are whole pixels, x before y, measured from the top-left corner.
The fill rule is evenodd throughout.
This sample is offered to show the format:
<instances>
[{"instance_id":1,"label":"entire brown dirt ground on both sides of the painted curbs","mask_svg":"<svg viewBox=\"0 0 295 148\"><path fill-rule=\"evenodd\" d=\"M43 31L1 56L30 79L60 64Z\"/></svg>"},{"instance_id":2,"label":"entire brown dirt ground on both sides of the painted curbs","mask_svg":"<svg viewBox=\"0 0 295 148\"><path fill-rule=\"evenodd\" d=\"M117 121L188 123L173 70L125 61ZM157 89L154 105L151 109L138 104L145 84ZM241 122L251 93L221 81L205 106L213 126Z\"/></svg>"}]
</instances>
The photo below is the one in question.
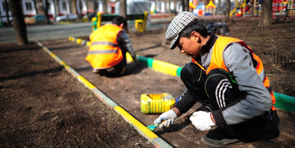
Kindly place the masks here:
<instances>
[{"instance_id":1,"label":"entire brown dirt ground on both sides of the painted curbs","mask_svg":"<svg viewBox=\"0 0 295 148\"><path fill-rule=\"evenodd\" d=\"M262 33L255 20L232 20L229 26L229 36L245 41L262 59L273 91L294 97L294 21L280 21ZM165 31L129 37L138 55L178 66L191 60L178 49L169 50ZM66 39L42 43L146 126L159 115L140 112L141 94L168 92L176 98L185 90L179 77L142 63L128 64L130 74L122 77L99 76L85 61L87 46ZM2 44L0 49L0 147L154 147L37 44ZM196 130L189 121L200 106L197 103L175 124L156 129L155 134L173 147L206 147L200 138L207 131ZM294 147L294 123L293 112L277 109L272 122L246 133L247 143L229 147Z\"/></svg>"}]
</instances>

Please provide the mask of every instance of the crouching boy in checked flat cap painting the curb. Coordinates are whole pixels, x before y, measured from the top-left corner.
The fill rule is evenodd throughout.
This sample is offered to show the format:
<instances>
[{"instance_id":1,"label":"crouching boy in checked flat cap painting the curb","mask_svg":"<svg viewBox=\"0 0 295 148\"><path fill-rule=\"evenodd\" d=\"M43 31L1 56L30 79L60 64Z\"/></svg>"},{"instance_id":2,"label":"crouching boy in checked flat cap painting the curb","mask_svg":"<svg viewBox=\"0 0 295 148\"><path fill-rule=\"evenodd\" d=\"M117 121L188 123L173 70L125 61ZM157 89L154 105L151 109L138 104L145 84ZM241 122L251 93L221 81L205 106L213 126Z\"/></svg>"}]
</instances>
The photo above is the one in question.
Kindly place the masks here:
<instances>
[{"instance_id":1,"label":"crouching boy in checked flat cap painting the curb","mask_svg":"<svg viewBox=\"0 0 295 148\"><path fill-rule=\"evenodd\" d=\"M187 90L175 107L164 112L155 124L169 127L195 103L205 106L194 112L192 124L210 130L201 140L210 147L242 144L245 130L262 127L272 119L275 98L259 57L243 41L214 35L191 12L177 15L166 32L181 54L192 57L180 73Z\"/></svg>"}]
</instances>

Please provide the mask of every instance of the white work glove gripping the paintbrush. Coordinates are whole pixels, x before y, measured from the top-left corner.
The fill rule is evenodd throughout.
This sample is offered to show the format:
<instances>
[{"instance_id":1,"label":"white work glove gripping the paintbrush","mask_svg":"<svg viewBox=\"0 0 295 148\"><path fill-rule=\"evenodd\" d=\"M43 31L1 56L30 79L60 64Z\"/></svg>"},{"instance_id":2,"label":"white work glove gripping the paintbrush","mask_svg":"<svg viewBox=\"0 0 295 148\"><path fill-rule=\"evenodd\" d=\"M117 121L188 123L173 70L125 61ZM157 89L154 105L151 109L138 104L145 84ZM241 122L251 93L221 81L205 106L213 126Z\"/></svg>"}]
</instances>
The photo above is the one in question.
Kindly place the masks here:
<instances>
[{"instance_id":1,"label":"white work glove gripping the paintbrush","mask_svg":"<svg viewBox=\"0 0 295 148\"><path fill-rule=\"evenodd\" d=\"M154 123L160 124L162 121L165 120L165 122L160 124L160 126L157 128L169 127L170 124L173 124L176 118L176 113L172 109L170 109L169 111L162 113L160 117L154 121Z\"/></svg>"}]
</instances>

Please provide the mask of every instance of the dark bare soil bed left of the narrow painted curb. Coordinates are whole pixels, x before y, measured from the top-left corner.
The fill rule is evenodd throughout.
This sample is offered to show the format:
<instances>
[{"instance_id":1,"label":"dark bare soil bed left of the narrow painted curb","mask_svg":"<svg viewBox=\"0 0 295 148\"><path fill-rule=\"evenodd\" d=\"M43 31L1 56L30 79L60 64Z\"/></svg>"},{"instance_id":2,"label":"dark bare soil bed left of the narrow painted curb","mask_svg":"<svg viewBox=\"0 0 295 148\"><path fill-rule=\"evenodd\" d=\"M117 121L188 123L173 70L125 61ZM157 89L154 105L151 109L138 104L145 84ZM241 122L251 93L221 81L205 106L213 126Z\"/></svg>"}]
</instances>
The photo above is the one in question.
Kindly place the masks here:
<instances>
[{"instance_id":1,"label":"dark bare soil bed left of the narrow painted curb","mask_svg":"<svg viewBox=\"0 0 295 148\"><path fill-rule=\"evenodd\" d=\"M0 53L0 147L154 147L36 43Z\"/></svg>"}]
</instances>

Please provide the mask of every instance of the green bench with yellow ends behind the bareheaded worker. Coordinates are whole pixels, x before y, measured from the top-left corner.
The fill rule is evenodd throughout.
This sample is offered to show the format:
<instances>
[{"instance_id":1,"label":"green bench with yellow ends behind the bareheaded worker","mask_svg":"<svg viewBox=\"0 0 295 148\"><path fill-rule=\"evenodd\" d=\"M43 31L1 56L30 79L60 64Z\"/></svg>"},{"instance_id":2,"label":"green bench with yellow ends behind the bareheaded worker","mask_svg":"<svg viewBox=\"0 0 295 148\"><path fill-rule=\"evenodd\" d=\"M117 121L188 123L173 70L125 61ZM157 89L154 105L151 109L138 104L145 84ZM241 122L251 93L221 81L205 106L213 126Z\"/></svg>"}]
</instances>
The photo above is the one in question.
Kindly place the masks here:
<instances>
[{"instance_id":1,"label":"green bench with yellow ends behind the bareheaded worker","mask_svg":"<svg viewBox=\"0 0 295 148\"><path fill-rule=\"evenodd\" d=\"M92 17L92 19L91 19L92 32L101 26L102 21L113 21L113 19L117 16L119 16L119 15L118 14L101 14L100 12L97 12L96 17ZM135 29L137 32L143 32L143 31L145 31L147 16L148 16L148 12L145 11L142 14L127 15L127 20L134 21Z\"/></svg>"}]
</instances>

